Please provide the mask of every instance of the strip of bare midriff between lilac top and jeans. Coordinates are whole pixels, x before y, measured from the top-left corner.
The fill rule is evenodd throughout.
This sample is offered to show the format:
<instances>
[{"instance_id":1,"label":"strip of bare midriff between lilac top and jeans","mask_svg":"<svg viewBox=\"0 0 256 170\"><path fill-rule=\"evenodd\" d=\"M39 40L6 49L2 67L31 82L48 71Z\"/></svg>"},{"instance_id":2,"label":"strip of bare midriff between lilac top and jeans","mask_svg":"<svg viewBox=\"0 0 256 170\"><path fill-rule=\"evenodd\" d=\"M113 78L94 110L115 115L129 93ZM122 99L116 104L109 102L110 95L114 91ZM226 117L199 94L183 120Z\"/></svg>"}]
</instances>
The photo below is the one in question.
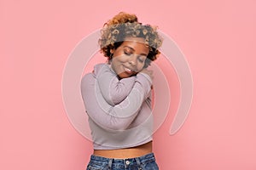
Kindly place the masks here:
<instances>
[{"instance_id":1,"label":"strip of bare midriff between lilac top and jeans","mask_svg":"<svg viewBox=\"0 0 256 170\"><path fill-rule=\"evenodd\" d=\"M152 152L152 141L132 148L117 150L94 150L93 155L115 159L144 156Z\"/></svg>"}]
</instances>

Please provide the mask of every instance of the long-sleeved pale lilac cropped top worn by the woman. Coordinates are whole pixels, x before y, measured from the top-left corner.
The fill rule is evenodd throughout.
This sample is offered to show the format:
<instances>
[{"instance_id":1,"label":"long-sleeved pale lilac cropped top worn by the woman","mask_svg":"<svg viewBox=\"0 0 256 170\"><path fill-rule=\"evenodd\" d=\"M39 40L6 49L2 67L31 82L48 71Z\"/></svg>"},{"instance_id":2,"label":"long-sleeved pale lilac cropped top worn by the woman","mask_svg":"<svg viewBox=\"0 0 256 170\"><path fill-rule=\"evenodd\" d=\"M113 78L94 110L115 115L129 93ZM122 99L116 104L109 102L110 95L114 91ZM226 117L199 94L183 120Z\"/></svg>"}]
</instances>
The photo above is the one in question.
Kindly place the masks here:
<instances>
[{"instance_id":1,"label":"long-sleeved pale lilac cropped top worn by the woman","mask_svg":"<svg viewBox=\"0 0 256 170\"><path fill-rule=\"evenodd\" d=\"M94 150L134 147L152 140L151 78L142 72L119 79L108 64L81 81Z\"/></svg>"}]
</instances>

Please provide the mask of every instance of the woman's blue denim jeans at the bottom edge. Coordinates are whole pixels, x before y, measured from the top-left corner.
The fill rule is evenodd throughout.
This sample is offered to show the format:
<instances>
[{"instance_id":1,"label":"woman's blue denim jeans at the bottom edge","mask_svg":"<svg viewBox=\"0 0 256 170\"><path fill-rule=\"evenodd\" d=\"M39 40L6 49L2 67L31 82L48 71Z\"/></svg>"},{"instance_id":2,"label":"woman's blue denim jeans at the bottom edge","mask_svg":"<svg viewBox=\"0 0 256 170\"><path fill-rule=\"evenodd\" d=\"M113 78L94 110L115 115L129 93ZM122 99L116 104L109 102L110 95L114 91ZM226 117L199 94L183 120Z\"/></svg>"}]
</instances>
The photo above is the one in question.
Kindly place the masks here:
<instances>
[{"instance_id":1,"label":"woman's blue denim jeans at the bottom edge","mask_svg":"<svg viewBox=\"0 0 256 170\"><path fill-rule=\"evenodd\" d=\"M102 156L90 156L90 162L86 170L158 170L154 158L154 153L145 156L128 158L128 159L112 159Z\"/></svg>"}]
</instances>

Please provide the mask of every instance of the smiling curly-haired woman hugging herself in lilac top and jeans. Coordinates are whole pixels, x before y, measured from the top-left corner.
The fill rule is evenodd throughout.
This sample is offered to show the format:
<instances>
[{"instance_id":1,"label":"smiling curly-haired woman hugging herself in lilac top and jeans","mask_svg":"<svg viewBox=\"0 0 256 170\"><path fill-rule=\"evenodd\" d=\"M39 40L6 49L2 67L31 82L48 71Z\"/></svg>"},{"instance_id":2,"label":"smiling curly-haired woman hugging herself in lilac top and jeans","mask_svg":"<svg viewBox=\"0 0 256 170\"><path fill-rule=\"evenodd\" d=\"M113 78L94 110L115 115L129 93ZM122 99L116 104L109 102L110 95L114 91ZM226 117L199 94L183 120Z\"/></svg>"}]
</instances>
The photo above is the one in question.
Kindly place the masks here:
<instances>
[{"instance_id":1,"label":"smiling curly-haired woman hugging herself in lilac top and jeans","mask_svg":"<svg viewBox=\"0 0 256 170\"><path fill-rule=\"evenodd\" d=\"M160 54L156 29L119 13L99 40L108 63L95 65L81 83L94 153L87 169L159 169L152 152L150 62Z\"/></svg>"}]
</instances>

